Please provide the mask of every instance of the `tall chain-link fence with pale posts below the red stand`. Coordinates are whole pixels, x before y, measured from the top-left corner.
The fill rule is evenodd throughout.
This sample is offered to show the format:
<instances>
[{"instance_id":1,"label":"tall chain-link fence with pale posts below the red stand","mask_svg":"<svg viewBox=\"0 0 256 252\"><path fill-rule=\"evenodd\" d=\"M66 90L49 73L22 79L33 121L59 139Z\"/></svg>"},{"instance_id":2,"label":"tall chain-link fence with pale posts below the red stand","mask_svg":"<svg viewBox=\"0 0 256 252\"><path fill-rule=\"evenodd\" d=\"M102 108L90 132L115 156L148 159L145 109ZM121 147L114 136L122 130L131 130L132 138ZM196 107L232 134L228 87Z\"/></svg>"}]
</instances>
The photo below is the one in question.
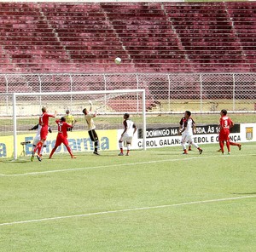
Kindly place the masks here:
<instances>
[{"instance_id":1,"label":"tall chain-link fence with pale posts below the red stand","mask_svg":"<svg viewBox=\"0 0 256 252\"><path fill-rule=\"evenodd\" d=\"M145 89L148 112L255 112L254 73L1 74L1 93ZM136 101L134 101L136 102ZM72 106L73 97L67 101ZM1 100L2 115L9 107Z\"/></svg>"}]
</instances>

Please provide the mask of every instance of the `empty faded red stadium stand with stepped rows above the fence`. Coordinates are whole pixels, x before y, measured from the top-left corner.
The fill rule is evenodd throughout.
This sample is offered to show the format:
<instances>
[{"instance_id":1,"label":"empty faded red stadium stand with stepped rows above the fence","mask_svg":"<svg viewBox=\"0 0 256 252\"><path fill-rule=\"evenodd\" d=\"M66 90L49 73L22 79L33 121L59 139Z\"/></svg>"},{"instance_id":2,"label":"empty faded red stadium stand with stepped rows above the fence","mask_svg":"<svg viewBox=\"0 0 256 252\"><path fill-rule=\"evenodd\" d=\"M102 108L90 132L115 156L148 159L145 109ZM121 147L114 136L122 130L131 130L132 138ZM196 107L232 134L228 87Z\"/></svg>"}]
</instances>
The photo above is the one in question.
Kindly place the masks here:
<instances>
[{"instance_id":1,"label":"empty faded red stadium stand with stepped rows above the fence","mask_svg":"<svg viewBox=\"0 0 256 252\"><path fill-rule=\"evenodd\" d=\"M254 72L255 22L256 2L0 3L0 72Z\"/></svg>"}]
</instances>

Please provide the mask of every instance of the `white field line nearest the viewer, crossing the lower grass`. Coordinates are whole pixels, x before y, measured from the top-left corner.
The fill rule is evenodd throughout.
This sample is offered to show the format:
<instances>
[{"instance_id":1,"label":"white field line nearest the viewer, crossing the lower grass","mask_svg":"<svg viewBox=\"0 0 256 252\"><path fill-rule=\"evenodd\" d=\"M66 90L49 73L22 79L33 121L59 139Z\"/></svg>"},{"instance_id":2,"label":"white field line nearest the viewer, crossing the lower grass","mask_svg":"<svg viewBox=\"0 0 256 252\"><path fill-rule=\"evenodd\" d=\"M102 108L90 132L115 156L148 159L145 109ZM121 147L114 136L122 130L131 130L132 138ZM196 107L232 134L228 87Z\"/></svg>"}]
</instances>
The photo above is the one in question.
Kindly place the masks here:
<instances>
[{"instance_id":1,"label":"white field line nearest the viewer, crossing the lower grass","mask_svg":"<svg viewBox=\"0 0 256 252\"><path fill-rule=\"evenodd\" d=\"M209 200L201 200L201 201L192 201L192 202L186 202L186 203L173 203L173 204L166 204L166 205L159 205L159 206L152 206L152 207L110 210L110 211L102 211L102 212L89 213L89 214L83 214L83 215L55 216L55 217L50 217L50 218L34 219L34 220L27 220L27 221L13 221L13 222L0 223L0 226L13 226L16 224L35 223L35 222L42 222L42 221L56 221L56 220L63 220L63 219L88 217L88 216L93 216L93 215L118 214L118 213L132 212L132 211L139 211L139 210L164 209L164 208L180 207L180 206L192 205L192 204L231 201L231 200L238 200L238 199L243 199L243 198L256 198L256 195L241 196L241 197L236 197L236 198L217 198L217 199L209 199Z\"/></svg>"}]
</instances>

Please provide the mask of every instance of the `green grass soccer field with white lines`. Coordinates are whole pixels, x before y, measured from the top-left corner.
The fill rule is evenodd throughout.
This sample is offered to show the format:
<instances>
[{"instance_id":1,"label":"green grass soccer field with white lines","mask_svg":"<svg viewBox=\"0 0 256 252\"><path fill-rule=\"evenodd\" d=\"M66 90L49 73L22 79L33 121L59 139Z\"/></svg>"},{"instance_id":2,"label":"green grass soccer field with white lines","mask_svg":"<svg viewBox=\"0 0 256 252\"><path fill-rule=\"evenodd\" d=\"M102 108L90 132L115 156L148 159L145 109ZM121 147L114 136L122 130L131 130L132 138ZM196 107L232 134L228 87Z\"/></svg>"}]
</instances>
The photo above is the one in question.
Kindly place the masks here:
<instances>
[{"instance_id":1,"label":"green grass soccer field with white lines","mask_svg":"<svg viewBox=\"0 0 256 252\"><path fill-rule=\"evenodd\" d=\"M0 251L255 251L255 147L0 159Z\"/></svg>"}]
</instances>

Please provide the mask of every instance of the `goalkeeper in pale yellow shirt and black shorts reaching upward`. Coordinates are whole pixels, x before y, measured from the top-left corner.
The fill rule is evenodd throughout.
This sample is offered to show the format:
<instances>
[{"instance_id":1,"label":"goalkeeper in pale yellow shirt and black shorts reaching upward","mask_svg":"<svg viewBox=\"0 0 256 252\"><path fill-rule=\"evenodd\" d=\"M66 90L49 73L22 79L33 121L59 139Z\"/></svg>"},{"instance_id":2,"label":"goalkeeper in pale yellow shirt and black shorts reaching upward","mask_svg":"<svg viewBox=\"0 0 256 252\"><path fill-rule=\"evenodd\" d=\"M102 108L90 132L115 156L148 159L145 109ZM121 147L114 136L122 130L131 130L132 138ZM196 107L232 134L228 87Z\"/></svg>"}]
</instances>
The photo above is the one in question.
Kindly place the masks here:
<instances>
[{"instance_id":1,"label":"goalkeeper in pale yellow shirt and black shorts reaching upward","mask_svg":"<svg viewBox=\"0 0 256 252\"><path fill-rule=\"evenodd\" d=\"M94 124L93 118L96 117L96 112L92 113L92 103L90 102L90 111L88 112L86 108L83 109L84 113L84 119L88 128L88 134L90 136L90 140L94 142L94 154L100 155L98 152L98 144L99 144L99 139L98 135L96 134L96 126Z\"/></svg>"}]
</instances>

